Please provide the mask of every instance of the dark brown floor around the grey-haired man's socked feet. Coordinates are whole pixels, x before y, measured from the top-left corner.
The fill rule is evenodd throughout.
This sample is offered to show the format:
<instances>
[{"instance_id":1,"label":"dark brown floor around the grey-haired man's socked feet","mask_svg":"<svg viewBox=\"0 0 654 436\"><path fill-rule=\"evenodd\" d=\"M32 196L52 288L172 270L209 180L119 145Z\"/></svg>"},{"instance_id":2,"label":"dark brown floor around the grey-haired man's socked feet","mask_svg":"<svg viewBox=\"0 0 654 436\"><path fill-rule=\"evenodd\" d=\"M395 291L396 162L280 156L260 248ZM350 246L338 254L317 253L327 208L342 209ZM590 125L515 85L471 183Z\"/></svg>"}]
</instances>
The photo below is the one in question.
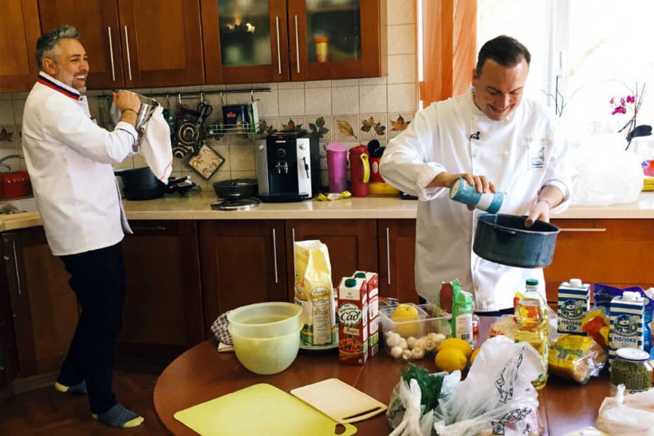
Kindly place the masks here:
<instances>
[{"instance_id":1,"label":"dark brown floor around the grey-haired man's socked feet","mask_svg":"<svg viewBox=\"0 0 654 436\"><path fill-rule=\"evenodd\" d=\"M123 406L145 418L137 428L111 428L91 418L86 395L67 395L52 386L0 403L0 435L3 436L144 436L169 435L152 403L157 377L165 363L119 368L113 375L113 391Z\"/></svg>"}]
</instances>

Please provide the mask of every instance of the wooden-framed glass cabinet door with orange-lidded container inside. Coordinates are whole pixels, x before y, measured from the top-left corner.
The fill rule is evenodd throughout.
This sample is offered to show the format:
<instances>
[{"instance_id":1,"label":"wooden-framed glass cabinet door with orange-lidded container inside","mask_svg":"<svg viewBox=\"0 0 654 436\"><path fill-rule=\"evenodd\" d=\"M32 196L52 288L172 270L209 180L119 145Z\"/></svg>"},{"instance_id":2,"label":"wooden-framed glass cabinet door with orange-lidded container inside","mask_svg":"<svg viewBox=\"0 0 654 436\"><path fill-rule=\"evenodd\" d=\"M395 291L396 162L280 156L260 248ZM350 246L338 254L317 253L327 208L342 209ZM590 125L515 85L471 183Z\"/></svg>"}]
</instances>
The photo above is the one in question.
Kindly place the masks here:
<instances>
[{"instance_id":1,"label":"wooden-framed glass cabinet door with orange-lidded container inside","mask_svg":"<svg viewBox=\"0 0 654 436\"><path fill-rule=\"evenodd\" d=\"M288 0L292 80L386 74L384 0Z\"/></svg>"}]
</instances>

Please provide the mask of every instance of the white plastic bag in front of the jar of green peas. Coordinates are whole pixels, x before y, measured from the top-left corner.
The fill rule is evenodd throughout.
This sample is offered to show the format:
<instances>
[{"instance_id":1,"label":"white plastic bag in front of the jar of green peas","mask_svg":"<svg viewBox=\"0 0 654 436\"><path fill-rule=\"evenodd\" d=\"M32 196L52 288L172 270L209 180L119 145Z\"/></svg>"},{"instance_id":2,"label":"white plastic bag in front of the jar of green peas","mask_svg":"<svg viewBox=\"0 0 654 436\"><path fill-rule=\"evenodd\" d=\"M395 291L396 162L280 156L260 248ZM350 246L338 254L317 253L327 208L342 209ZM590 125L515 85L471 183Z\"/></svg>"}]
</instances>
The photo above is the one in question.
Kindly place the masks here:
<instances>
[{"instance_id":1,"label":"white plastic bag in front of the jar of green peas","mask_svg":"<svg viewBox=\"0 0 654 436\"><path fill-rule=\"evenodd\" d=\"M606 397L595 426L611 436L654 436L654 389L624 395L618 385L615 397Z\"/></svg>"}]
</instances>

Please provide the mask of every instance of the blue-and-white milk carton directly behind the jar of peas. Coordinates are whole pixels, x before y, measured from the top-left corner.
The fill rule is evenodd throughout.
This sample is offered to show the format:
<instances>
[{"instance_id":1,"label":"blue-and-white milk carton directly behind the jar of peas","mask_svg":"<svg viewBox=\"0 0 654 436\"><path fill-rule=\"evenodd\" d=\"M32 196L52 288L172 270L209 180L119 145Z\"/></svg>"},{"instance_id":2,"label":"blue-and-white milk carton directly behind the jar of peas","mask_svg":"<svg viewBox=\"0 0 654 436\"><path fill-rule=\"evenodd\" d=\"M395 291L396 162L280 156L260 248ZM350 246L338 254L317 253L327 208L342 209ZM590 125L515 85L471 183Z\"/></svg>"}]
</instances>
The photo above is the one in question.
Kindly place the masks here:
<instances>
[{"instance_id":1,"label":"blue-and-white milk carton directly behind the jar of peas","mask_svg":"<svg viewBox=\"0 0 654 436\"><path fill-rule=\"evenodd\" d=\"M644 298L638 292L622 292L611 300L609 363L620 348L643 349Z\"/></svg>"}]
</instances>

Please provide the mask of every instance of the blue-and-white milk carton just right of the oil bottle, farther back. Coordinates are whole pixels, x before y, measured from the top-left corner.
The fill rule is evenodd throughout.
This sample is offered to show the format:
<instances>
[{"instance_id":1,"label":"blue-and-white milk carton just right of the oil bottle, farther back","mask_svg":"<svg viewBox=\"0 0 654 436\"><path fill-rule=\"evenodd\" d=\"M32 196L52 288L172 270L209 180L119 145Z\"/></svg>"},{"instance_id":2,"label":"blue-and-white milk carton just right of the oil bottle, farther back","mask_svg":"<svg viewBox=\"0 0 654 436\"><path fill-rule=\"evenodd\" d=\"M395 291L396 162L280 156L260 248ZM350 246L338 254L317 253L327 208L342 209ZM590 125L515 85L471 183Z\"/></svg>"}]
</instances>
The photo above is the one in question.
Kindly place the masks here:
<instances>
[{"instance_id":1,"label":"blue-and-white milk carton just right of the oil bottle, farther back","mask_svg":"<svg viewBox=\"0 0 654 436\"><path fill-rule=\"evenodd\" d=\"M558 332L585 335L581 321L590 309L591 285L580 279L564 281L558 287Z\"/></svg>"}]
</instances>

